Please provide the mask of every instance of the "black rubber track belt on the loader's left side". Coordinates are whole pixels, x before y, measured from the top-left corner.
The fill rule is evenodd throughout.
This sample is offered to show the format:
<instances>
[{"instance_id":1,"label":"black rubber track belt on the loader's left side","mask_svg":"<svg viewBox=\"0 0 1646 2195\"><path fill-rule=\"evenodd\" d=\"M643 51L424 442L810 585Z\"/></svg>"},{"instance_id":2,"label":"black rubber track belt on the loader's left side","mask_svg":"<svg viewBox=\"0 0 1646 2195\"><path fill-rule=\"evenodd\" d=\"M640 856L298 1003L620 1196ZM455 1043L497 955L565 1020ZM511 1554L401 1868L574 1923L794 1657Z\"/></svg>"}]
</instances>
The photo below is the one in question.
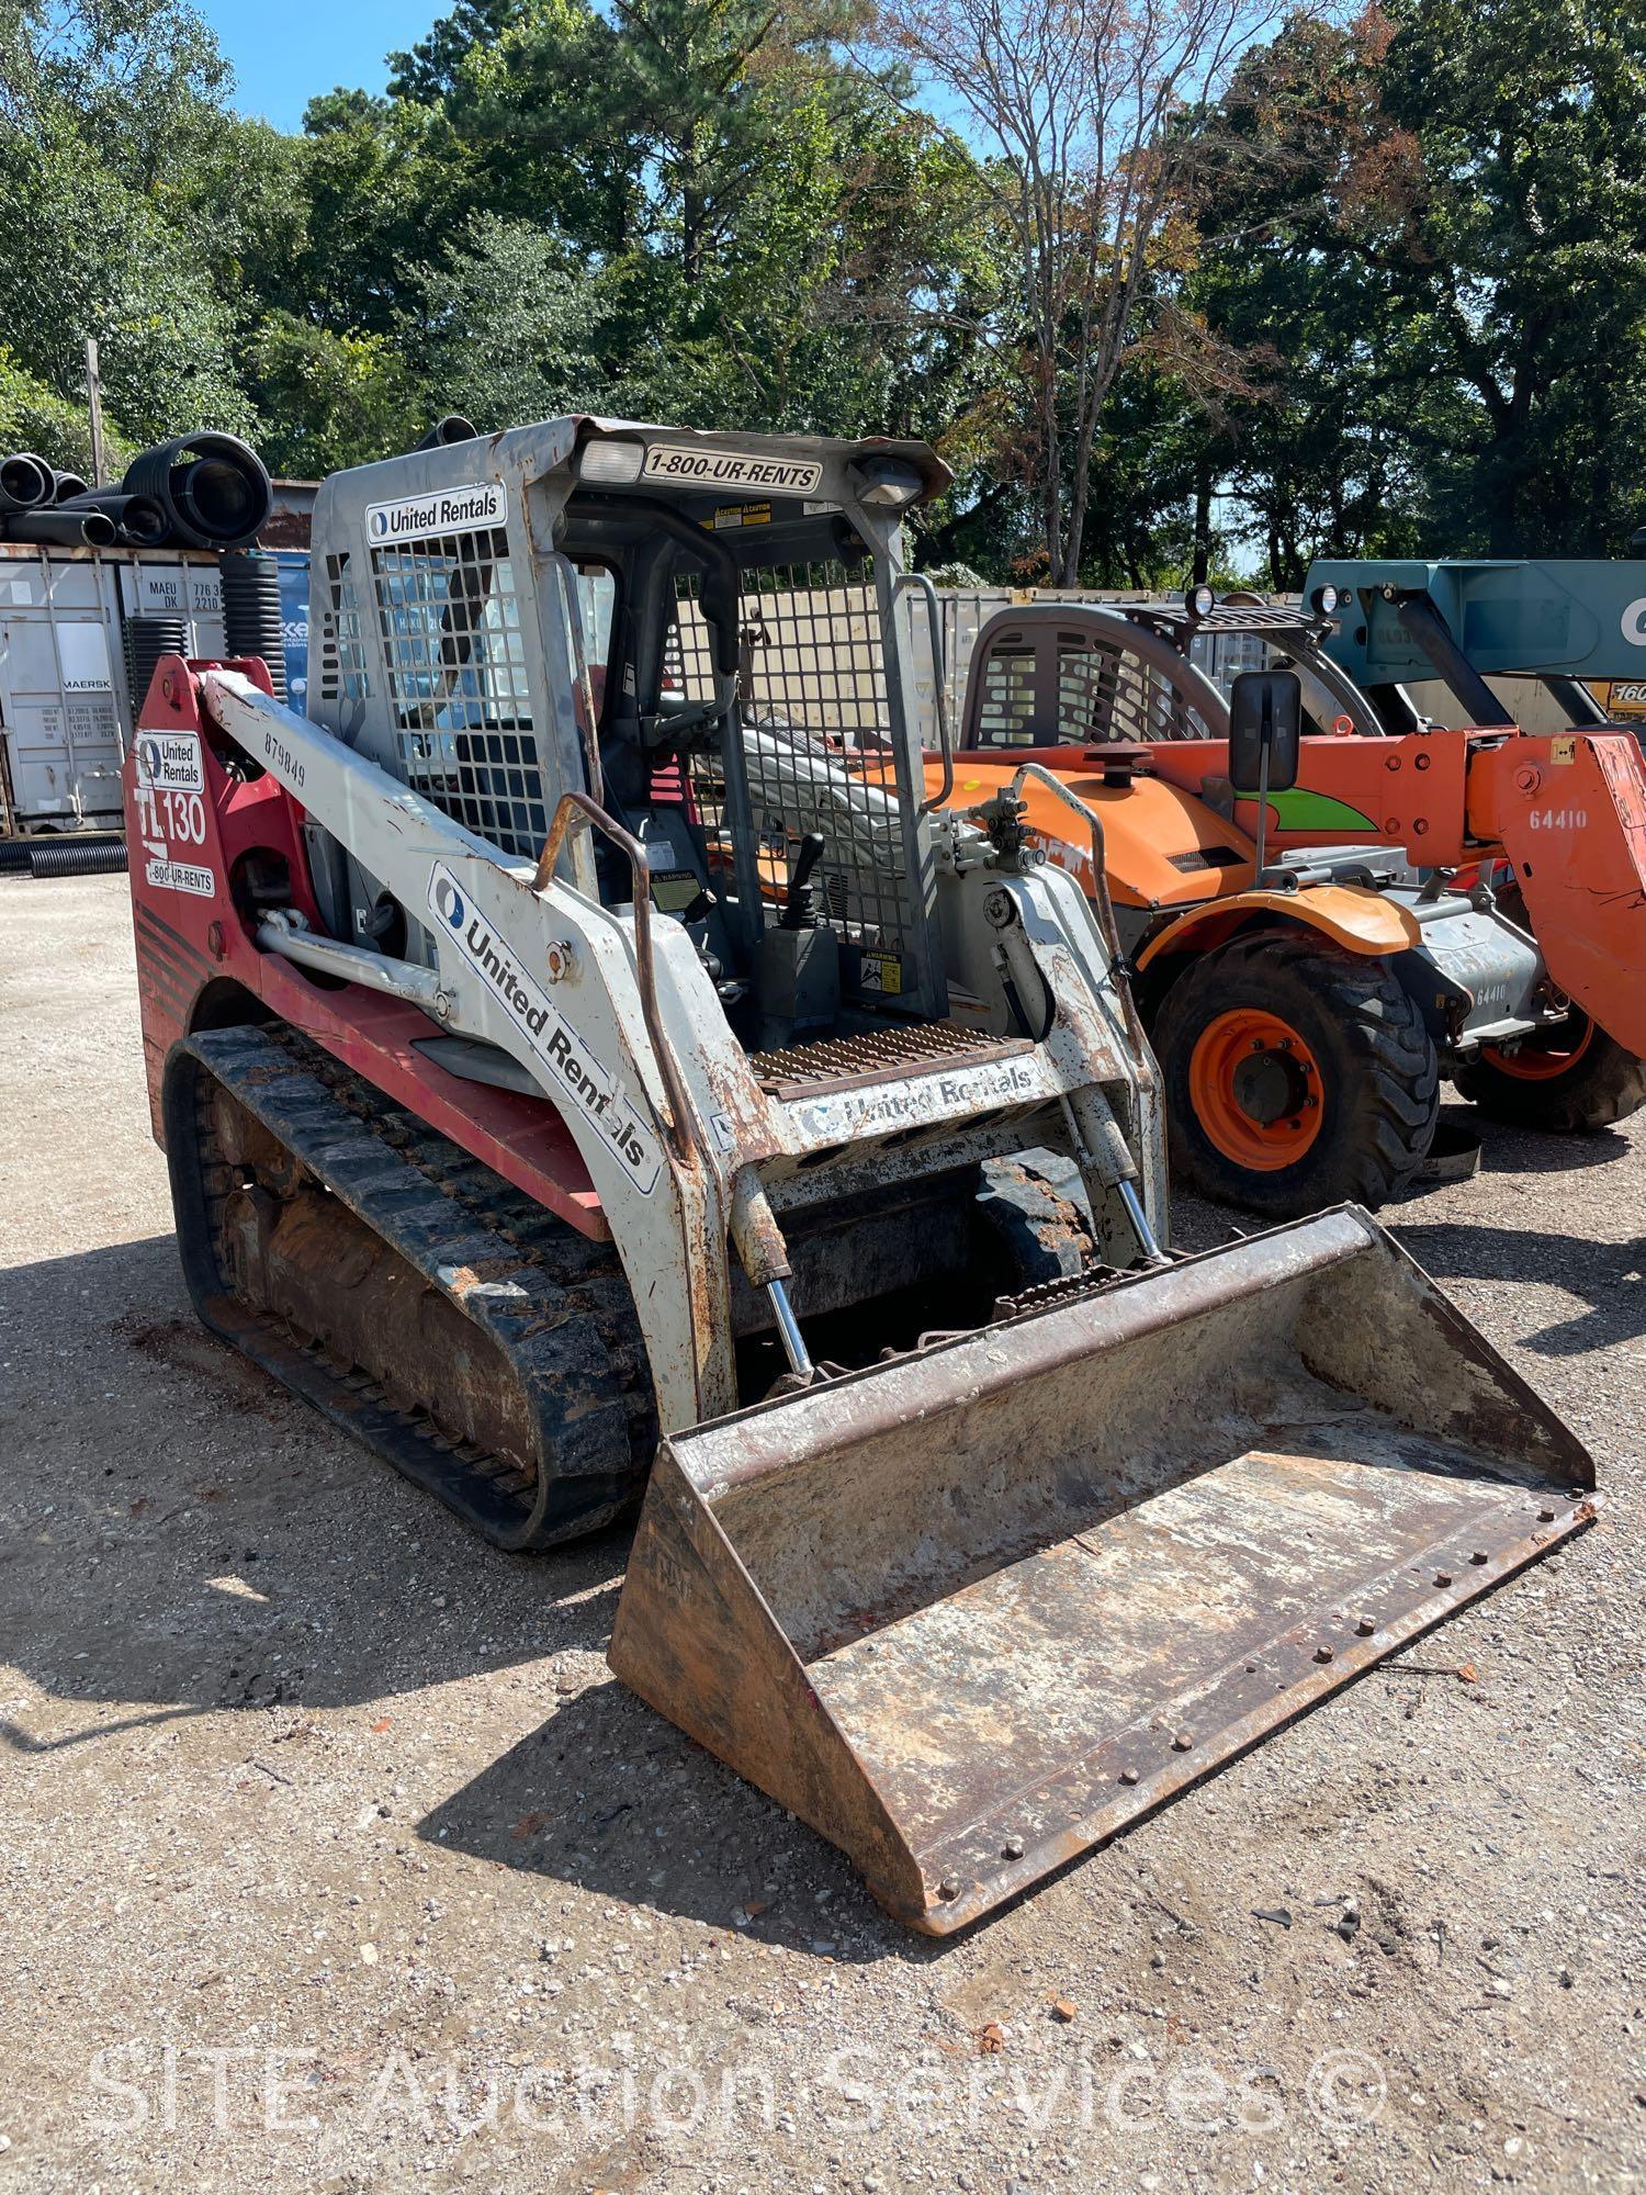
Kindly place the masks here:
<instances>
[{"instance_id":1,"label":"black rubber track belt on the loader's left side","mask_svg":"<svg viewBox=\"0 0 1646 2195\"><path fill-rule=\"evenodd\" d=\"M371 1367L233 1297L208 1080L509 1357L542 1468L448 1438L397 1409ZM182 1130L182 1133L178 1133ZM656 1449L652 1378L610 1242L590 1242L492 1168L395 1106L331 1054L272 1025L217 1029L167 1062L167 1146L184 1269L202 1319L503 1547L546 1547L632 1508ZM483 1288L452 1286L456 1271Z\"/></svg>"}]
</instances>

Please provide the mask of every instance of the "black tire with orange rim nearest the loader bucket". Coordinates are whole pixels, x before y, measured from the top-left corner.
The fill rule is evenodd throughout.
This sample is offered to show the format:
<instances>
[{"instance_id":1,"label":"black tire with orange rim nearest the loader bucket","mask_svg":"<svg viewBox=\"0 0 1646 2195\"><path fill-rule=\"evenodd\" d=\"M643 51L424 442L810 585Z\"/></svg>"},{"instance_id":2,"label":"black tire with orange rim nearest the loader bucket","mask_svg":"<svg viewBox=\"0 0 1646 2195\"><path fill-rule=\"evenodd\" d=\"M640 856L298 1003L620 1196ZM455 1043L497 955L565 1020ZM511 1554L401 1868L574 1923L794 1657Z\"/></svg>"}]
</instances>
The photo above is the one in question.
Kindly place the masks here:
<instances>
[{"instance_id":1,"label":"black tire with orange rim nearest the loader bucket","mask_svg":"<svg viewBox=\"0 0 1646 2195\"><path fill-rule=\"evenodd\" d=\"M1172 1168L1269 1220L1376 1209L1409 1185L1440 1065L1387 959L1258 931L1196 959L1154 1016Z\"/></svg>"}]
</instances>

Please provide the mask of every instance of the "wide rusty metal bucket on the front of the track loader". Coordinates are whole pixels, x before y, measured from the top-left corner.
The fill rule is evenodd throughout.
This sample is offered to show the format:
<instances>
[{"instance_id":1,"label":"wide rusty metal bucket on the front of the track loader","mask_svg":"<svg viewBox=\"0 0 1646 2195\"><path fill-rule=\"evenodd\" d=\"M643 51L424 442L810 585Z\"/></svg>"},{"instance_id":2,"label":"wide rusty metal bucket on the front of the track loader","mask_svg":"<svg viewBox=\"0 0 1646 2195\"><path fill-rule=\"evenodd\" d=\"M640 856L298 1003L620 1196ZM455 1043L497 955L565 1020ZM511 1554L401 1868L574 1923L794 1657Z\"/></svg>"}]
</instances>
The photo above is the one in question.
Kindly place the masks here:
<instances>
[{"instance_id":1,"label":"wide rusty metal bucket on the front of the track loader","mask_svg":"<svg viewBox=\"0 0 1646 2195\"><path fill-rule=\"evenodd\" d=\"M948 1934L1593 1515L1363 1212L663 1442L610 1664Z\"/></svg>"}]
</instances>

